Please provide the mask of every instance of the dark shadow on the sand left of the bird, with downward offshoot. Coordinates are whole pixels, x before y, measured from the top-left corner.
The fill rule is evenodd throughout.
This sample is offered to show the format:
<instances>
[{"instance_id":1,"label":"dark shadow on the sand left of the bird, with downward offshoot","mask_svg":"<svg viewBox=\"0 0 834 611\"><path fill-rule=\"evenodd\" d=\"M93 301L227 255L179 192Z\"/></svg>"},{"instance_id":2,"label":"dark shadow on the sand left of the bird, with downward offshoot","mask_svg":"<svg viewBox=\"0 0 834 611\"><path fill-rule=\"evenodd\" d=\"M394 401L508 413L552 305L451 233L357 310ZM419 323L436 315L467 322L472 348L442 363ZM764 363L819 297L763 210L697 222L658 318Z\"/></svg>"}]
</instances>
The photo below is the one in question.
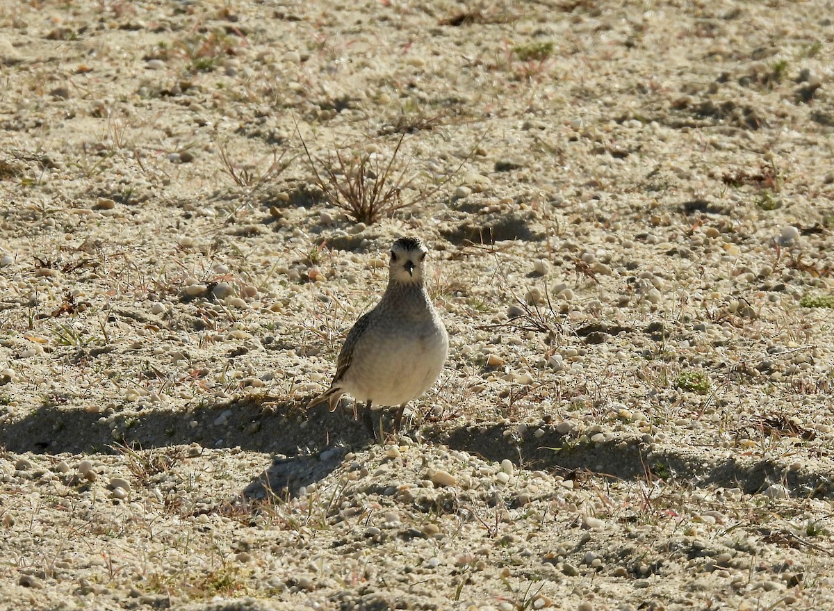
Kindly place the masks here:
<instances>
[{"instance_id":1,"label":"dark shadow on the sand left of the bird, with downward offshoot","mask_svg":"<svg viewBox=\"0 0 834 611\"><path fill-rule=\"evenodd\" d=\"M187 410L150 409L103 416L65 406L39 406L27 417L0 424L0 447L41 455L113 454L119 447L152 450L198 443L271 454L272 464L244 488L247 498L291 497L341 464L347 448L367 447L363 422L326 406L243 396Z\"/></svg>"}]
</instances>

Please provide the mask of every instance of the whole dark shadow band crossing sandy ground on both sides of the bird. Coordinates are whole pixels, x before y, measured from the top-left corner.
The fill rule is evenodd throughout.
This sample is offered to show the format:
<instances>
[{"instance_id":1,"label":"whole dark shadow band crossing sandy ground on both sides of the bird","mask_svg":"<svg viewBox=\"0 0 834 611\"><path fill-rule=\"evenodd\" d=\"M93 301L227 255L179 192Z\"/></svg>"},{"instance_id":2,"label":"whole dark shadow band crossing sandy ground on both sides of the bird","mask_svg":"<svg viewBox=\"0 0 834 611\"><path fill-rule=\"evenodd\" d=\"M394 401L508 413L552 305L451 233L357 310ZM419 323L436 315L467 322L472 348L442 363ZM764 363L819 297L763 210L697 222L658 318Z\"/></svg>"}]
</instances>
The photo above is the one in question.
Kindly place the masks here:
<instances>
[{"instance_id":1,"label":"whole dark shadow band crossing sandy ground on both sides of the bird","mask_svg":"<svg viewBox=\"0 0 834 611\"><path fill-rule=\"evenodd\" d=\"M0 447L43 455L114 453L117 444L145 450L194 442L208 448L239 447L273 456L271 465L244 488L244 497L288 497L333 472L348 449L372 443L364 423L355 422L349 412L331 413L324 405L300 409L303 404L298 399L243 396L177 412L151 409L107 416L41 406L20 420L0 423ZM512 423L473 427L435 422L424 423L420 433L427 445L445 444L490 461L510 458L521 467L565 477L582 477L583 472L624 480L674 477L699 486L740 487L747 493L782 482L791 494L825 497L834 492L825 466L786 471L776 462L732 453L705 457L687 447L648 447L640 437L577 443L550 426L519 439L512 434L514 428Z\"/></svg>"}]
</instances>

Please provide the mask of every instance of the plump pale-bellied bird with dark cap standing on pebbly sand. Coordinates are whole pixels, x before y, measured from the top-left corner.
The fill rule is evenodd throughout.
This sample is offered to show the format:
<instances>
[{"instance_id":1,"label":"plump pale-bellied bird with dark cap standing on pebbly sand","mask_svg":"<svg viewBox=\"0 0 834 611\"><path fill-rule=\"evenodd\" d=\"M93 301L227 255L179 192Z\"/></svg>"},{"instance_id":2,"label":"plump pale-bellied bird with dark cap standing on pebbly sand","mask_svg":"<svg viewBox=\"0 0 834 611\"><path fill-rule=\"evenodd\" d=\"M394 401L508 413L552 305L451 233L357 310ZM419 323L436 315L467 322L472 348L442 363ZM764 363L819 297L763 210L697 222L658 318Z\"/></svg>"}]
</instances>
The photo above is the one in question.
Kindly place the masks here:
<instances>
[{"instance_id":1,"label":"plump pale-bellied bird with dark cap standing on pebbly sand","mask_svg":"<svg viewBox=\"0 0 834 611\"><path fill-rule=\"evenodd\" d=\"M348 331L328 390L308 404L328 401L333 412L345 393L364 402L364 424L374 442L371 406L399 406L394 418L399 432L405 406L435 383L449 352L449 336L425 288L428 252L419 238L394 241L388 287Z\"/></svg>"}]
</instances>

